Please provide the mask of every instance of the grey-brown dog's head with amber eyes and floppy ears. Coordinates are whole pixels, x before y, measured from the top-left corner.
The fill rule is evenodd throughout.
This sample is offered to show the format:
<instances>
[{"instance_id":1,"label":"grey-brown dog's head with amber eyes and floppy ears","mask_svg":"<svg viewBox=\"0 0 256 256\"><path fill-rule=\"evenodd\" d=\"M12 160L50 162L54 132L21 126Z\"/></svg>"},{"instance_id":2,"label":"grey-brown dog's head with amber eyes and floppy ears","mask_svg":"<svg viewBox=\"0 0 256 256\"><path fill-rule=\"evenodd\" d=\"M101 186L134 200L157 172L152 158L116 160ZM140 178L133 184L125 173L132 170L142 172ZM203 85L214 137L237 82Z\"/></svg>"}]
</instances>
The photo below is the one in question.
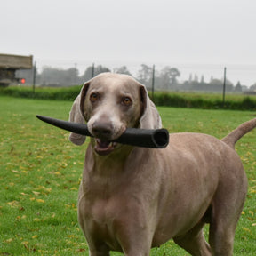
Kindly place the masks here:
<instances>
[{"instance_id":1,"label":"grey-brown dog's head with amber eyes and floppy ears","mask_svg":"<svg viewBox=\"0 0 256 256\"><path fill-rule=\"evenodd\" d=\"M69 121L87 123L95 137L92 146L100 156L107 156L121 147L116 140L128 127L161 128L161 118L149 99L146 87L132 76L102 73L86 82L70 111ZM69 136L76 145L85 137L76 133Z\"/></svg>"}]
</instances>

